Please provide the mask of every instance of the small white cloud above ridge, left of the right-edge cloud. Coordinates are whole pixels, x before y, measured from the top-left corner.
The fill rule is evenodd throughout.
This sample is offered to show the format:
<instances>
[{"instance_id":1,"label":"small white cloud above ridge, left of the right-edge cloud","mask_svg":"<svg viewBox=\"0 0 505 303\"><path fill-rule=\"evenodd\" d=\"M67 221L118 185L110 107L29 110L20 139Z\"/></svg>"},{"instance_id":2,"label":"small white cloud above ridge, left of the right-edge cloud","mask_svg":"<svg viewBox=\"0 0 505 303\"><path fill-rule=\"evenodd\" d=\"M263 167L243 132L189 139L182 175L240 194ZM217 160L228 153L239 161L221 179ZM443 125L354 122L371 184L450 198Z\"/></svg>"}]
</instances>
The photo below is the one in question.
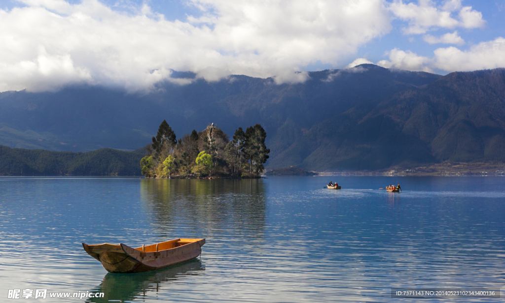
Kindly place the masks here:
<instances>
[{"instance_id":1,"label":"small white cloud above ridge, left of the right-edge cloud","mask_svg":"<svg viewBox=\"0 0 505 303\"><path fill-rule=\"evenodd\" d=\"M389 61L381 60L377 62L377 65L386 68L432 72L429 67L432 60L428 57L418 56L410 50L402 51L396 48L389 51L388 54Z\"/></svg>"}]
</instances>

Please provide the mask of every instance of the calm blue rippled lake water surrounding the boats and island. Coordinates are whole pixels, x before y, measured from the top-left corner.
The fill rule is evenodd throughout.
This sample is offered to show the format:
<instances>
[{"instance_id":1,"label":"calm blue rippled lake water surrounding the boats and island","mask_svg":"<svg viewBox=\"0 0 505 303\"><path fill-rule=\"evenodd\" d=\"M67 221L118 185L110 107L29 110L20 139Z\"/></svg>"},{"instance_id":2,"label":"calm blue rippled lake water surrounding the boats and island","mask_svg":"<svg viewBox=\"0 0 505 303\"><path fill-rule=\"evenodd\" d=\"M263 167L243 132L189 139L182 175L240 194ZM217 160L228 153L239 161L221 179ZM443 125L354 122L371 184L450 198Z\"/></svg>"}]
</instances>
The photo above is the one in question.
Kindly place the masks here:
<instances>
[{"instance_id":1,"label":"calm blue rippled lake water surrounding the boats and island","mask_svg":"<svg viewBox=\"0 0 505 303\"><path fill-rule=\"evenodd\" d=\"M330 180L342 190L324 189ZM403 192L378 190L390 183ZM0 297L85 301L7 299L45 288L105 293L88 302L413 302L391 288L499 290L504 221L503 177L3 177ZM107 273L81 246L176 238L207 243L197 260L139 274Z\"/></svg>"}]
</instances>

